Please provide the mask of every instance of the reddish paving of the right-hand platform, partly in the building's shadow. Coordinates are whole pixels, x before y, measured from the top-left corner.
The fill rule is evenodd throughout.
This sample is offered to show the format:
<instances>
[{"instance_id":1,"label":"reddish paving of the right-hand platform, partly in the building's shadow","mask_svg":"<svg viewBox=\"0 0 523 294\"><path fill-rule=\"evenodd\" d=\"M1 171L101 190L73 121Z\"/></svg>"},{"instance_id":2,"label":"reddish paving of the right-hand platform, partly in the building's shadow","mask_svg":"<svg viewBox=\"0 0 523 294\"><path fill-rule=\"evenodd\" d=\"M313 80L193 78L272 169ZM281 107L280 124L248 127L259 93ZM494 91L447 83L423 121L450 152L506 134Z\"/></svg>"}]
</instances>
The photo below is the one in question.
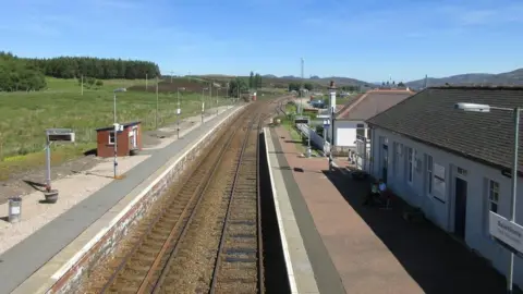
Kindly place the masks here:
<instances>
[{"instance_id":1,"label":"reddish paving of the right-hand platform, partly in the building's shadow","mask_svg":"<svg viewBox=\"0 0 523 294\"><path fill-rule=\"evenodd\" d=\"M275 128L273 140L280 162L285 160L282 169L291 173L285 185L297 183L292 194L305 203L306 208L294 210L302 235L319 234L336 267L330 274L341 278L346 293L506 292L504 278L449 234L430 222L405 221L401 199L393 198L390 210L363 206L369 183L352 180L341 169L329 172L325 158L301 158L282 127ZM301 221L300 215L313 223ZM314 258L318 244L305 237L304 244L320 292L333 293L321 290L323 272L315 265L329 258Z\"/></svg>"}]
</instances>

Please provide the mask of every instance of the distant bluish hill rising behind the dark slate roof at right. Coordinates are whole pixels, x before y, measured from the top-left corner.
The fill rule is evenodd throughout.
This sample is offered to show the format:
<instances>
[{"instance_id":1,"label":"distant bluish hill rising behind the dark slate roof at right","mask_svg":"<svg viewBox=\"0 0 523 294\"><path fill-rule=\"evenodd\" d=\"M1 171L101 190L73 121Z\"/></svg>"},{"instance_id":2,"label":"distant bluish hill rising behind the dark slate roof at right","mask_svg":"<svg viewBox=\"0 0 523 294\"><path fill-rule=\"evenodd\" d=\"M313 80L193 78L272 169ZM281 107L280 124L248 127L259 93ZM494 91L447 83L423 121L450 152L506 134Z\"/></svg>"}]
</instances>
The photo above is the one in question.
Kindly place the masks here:
<instances>
[{"instance_id":1,"label":"distant bluish hill rising behind the dark slate roof at right","mask_svg":"<svg viewBox=\"0 0 523 294\"><path fill-rule=\"evenodd\" d=\"M441 78L428 77L427 84L428 86L443 86L445 84L523 86L523 69L500 74L469 73ZM421 88L425 85L425 79L412 81L406 85L412 88Z\"/></svg>"}]
</instances>

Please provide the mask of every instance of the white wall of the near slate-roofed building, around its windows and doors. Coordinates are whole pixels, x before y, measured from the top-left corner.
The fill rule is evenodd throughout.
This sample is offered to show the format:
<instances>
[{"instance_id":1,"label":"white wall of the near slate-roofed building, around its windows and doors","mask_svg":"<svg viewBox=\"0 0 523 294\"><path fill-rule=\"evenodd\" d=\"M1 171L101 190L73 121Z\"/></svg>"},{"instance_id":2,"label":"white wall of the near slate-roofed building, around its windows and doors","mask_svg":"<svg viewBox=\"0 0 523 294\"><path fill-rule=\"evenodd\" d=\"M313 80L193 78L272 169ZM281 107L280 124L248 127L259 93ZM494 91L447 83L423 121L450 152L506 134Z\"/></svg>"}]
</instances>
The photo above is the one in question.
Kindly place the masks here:
<instances>
[{"instance_id":1,"label":"white wall of the near slate-roofed building, around its windows and doors","mask_svg":"<svg viewBox=\"0 0 523 294\"><path fill-rule=\"evenodd\" d=\"M500 199L498 213L508 217L511 205L511 185L510 179L503 176L500 170L483 166L463 157L437 149L421 143L416 143L398 134L392 134L385 130L376 128L372 138L372 162L370 173L374 176L381 177L381 168L384 164L382 142L380 137L388 139L388 186L400 197L413 206L421 207L428 219L439 225L445 231L452 233L454 231L454 182L455 177L467 182L466 199L466 229L465 243L476 249L485 258L492 261L492 266L501 273L507 272L509 254L508 252L492 241L488 234L488 180L499 183ZM393 156L394 144L402 144L401 156ZM400 145L401 146L401 145ZM408 152L406 147L413 148L419 159L419 170L413 172L413 183L408 183ZM433 162L445 167L445 195L438 195L433 188L433 195L428 194L428 176L426 156L433 157ZM396 159L396 160L394 160ZM394 162L396 161L396 162ZM458 173L458 168L465 169L466 175ZM520 177L519 193L516 201L516 222L523 223L523 180ZM433 185L434 187L434 185ZM441 198L441 200L438 200ZM514 282L523 287L523 260L515 257Z\"/></svg>"}]
</instances>

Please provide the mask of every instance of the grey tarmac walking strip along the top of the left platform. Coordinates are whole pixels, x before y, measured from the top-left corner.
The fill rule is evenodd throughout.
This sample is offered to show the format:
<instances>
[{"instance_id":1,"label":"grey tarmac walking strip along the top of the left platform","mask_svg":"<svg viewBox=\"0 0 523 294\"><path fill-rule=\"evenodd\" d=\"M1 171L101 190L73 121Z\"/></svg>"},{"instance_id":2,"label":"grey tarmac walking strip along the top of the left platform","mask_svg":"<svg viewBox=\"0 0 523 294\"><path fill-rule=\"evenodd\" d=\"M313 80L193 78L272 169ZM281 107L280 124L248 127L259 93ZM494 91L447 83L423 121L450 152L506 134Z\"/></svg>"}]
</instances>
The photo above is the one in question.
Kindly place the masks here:
<instances>
[{"instance_id":1,"label":"grey tarmac walking strip along the top of the left platform","mask_svg":"<svg viewBox=\"0 0 523 294\"><path fill-rule=\"evenodd\" d=\"M229 113L226 111L206 122L204 127L186 134L184 139L155 150L148 159L129 171L125 179L111 182L0 255L0 293L13 291L134 187Z\"/></svg>"}]
</instances>

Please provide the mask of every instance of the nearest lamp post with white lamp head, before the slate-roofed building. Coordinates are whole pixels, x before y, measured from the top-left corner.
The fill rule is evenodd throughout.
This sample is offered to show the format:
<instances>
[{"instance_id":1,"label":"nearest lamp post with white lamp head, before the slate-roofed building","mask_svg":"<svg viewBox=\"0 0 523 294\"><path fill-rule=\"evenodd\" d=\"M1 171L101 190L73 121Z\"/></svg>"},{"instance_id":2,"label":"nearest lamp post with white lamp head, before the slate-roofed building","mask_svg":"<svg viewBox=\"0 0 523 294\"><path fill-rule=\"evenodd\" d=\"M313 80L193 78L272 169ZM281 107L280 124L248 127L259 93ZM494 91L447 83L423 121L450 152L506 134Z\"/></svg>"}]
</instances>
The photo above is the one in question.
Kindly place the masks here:
<instances>
[{"instance_id":1,"label":"nearest lamp post with white lamp head, before the slate-roofed building","mask_svg":"<svg viewBox=\"0 0 523 294\"><path fill-rule=\"evenodd\" d=\"M506 108L506 107L492 107L489 105L476 105L476 103L455 103L454 109L469 111L469 112L490 112L490 110L500 110L512 112L514 123L513 146L512 146L512 176L511 176L511 205L509 221L515 222L515 201L518 199L518 161L519 161L519 142L520 142L520 113L521 108ZM514 253L510 252L509 271L507 273L507 293L511 294L513 290L514 279Z\"/></svg>"}]
</instances>

